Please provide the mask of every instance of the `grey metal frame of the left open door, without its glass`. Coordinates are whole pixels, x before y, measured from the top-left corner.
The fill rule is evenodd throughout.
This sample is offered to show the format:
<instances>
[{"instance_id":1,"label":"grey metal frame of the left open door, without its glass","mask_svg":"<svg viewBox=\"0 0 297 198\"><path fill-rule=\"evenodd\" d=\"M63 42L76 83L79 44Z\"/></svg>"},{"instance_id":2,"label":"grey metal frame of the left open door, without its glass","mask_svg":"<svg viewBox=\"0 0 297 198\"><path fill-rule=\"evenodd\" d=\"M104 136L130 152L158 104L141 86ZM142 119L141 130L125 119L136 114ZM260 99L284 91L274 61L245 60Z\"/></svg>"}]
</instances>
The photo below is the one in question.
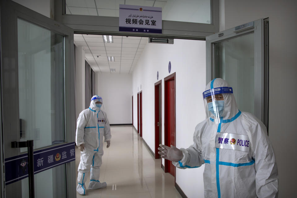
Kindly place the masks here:
<instances>
[{"instance_id":1,"label":"grey metal frame of the left open door, without its glass","mask_svg":"<svg viewBox=\"0 0 297 198\"><path fill-rule=\"evenodd\" d=\"M17 156L20 154L19 149L13 149L5 153L4 149L10 148L11 141L19 140L19 90L18 90L18 37L17 37L17 19L21 18L30 23L36 24L52 32L64 36L64 128L65 143L74 142L75 134L75 114L74 114L74 45L73 29L58 23L44 15L21 6L11 0L1 1L1 108L2 108L2 162L7 157ZM5 38L5 39L4 39ZM6 78L4 78L6 77ZM5 82L5 83L4 83ZM9 84L8 88L3 88L4 84ZM5 90L6 89L6 90ZM69 101L66 103L66 101ZM6 104L6 105L5 105ZM8 105L10 104L10 105ZM11 105L16 104L16 105ZM16 124L11 124L9 120L16 120ZM6 136L5 134L9 134ZM67 197L75 197L75 161L65 164ZM3 165L4 166L4 165ZM4 171L4 170L3 170ZM3 172L2 172L3 173ZM5 173L3 173L5 175ZM3 176L4 176L3 175ZM2 184L5 178L1 178ZM5 186L2 187L4 192ZM3 193L5 195L5 192ZM3 195L2 194L2 195Z\"/></svg>"}]
</instances>

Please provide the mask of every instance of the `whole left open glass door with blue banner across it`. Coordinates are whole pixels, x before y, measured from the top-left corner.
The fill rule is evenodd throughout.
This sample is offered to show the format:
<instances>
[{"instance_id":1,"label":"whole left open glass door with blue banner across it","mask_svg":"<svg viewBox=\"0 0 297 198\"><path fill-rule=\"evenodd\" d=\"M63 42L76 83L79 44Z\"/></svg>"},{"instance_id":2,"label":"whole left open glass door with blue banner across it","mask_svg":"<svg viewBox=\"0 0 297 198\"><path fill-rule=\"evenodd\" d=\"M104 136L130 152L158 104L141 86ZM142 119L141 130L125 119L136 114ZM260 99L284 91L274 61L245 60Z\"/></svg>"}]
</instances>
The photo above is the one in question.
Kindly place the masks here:
<instances>
[{"instance_id":1,"label":"whole left open glass door with blue banner across it","mask_svg":"<svg viewBox=\"0 0 297 198\"><path fill-rule=\"evenodd\" d=\"M1 1L5 197L29 197L28 166L34 166L35 197L76 194L73 50L73 29ZM27 148L11 148L26 140L34 141L33 165Z\"/></svg>"}]
</instances>

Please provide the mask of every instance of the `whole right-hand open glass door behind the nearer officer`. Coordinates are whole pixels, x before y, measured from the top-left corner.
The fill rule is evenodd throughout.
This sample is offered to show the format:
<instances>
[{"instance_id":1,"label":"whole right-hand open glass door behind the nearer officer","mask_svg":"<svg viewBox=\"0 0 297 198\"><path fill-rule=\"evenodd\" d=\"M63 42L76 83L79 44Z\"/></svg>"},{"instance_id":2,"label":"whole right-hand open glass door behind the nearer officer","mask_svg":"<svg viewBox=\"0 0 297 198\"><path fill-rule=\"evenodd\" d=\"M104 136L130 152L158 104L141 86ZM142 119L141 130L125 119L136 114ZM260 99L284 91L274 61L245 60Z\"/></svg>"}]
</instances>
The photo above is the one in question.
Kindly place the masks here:
<instances>
[{"instance_id":1,"label":"whole right-hand open glass door behind the nearer officer","mask_svg":"<svg viewBox=\"0 0 297 198\"><path fill-rule=\"evenodd\" d=\"M266 127L267 30L268 19L259 19L206 37L206 83L214 78L226 80L239 110L256 115Z\"/></svg>"}]
</instances>

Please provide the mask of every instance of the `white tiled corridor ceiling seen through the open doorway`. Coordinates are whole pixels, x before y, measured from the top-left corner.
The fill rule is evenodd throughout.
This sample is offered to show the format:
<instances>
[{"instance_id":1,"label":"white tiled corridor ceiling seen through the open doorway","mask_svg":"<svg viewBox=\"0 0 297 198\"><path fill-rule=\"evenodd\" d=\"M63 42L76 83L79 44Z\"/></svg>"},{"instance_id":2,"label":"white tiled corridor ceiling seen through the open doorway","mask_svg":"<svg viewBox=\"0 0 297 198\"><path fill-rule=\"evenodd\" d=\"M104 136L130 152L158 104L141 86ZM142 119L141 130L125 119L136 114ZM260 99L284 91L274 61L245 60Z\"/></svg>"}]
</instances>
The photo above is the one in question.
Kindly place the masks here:
<instances>
[{"instance_id":1,"label":"white tiled corridor ceiling seen through the open doorway","mask_svg":"<svg viewBox=\"0 0 297 198\"><path fill-rule=\"evenodd\" d=\"M101 73L131 74L147 43L148 37L113 36L113 43L105 43L102 35L74 34L74 44L83 46L86 60ZM108 61L108 56L113 56L114 62Z\"/></svg>"}]
</instances>

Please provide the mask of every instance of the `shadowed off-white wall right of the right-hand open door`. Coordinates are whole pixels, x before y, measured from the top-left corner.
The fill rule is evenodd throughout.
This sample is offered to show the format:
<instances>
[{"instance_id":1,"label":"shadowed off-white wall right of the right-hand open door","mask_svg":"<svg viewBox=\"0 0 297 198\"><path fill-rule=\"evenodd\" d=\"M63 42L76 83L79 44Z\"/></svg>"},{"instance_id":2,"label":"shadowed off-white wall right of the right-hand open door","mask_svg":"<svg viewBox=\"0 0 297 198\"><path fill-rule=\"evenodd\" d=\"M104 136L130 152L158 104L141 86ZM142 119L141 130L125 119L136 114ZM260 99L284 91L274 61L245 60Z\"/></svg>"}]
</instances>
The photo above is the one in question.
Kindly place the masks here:
<instances>
[{"instance_id":1,"label":"shadowed off-white wall right of the right-hand open door","mask_svg":"<svg viewBox=\"0 0 297 198\"><path fill-rule=\"evenodd\" d=\"M269 17L269 139L278 163L279 197L292 197L295 194L297 177L297 93L292 91L297 85L297 1L220 2L225 8L225 29ZM293 101L285 101L285 98Z\"/></svg>"}]
</instances>

